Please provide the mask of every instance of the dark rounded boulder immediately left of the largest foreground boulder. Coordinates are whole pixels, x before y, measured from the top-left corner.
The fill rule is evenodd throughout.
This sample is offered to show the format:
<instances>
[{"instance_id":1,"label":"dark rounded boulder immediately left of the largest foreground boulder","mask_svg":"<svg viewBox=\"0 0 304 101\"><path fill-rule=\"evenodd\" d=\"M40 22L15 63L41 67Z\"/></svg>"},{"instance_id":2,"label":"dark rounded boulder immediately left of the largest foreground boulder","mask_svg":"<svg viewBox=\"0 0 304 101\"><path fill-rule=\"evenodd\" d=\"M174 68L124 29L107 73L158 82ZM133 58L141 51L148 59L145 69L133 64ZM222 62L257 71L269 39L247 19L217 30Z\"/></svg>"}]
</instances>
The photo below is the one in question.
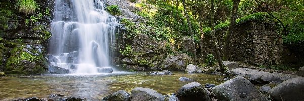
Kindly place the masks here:
<instances>
[{"instance_id":1,"label":"dark rounded boulder immediately left of the largest foreground boulder","mask_svg":"<svg viewBox=\"0 0 304 101\"><path fill-rule=\"evenodd\" d=\"M198 82L191 82L182 86L176 96L179 100L211 100L204 87Z\"/></svg>"}]
</instances>

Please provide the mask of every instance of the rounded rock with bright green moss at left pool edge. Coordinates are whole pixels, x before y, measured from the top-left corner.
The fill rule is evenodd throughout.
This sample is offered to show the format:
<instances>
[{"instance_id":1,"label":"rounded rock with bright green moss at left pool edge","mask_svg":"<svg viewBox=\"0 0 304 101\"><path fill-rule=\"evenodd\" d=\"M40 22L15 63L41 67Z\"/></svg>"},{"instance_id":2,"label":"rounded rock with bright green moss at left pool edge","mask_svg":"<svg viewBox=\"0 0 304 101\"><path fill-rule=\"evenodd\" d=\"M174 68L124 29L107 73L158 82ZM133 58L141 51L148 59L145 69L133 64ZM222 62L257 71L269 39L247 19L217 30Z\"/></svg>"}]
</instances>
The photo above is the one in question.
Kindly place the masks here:
<instances>
[{"instance_id":1,"label":"rounded rock with bright green moss at left pool edge","mask_svg":"<svg viewBox=\"0 0 304 101\"><path fill-rule=\"evenodd\" d=\"M36 49L39 45L20 45L11 51L5 71L7 74L37 75L47 71L47 60L43 53Z\"/></svg>"}]
</instances>

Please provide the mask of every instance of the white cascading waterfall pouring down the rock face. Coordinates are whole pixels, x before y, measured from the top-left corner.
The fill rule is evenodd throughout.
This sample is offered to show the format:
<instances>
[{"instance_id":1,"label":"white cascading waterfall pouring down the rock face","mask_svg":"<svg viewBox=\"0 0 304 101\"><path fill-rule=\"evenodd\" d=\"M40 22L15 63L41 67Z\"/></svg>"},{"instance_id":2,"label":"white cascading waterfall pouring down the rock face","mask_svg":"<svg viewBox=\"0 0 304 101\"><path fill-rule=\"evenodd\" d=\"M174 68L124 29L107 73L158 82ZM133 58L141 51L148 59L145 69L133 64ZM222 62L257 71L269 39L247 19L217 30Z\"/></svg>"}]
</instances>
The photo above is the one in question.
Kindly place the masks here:
<instances>
[{"instance_id":1,"label":"white cascading waterfall pouring down the rock face","mask_svg":"<svg viewBox=\"0 0 304 101\"><path fill-rule=\"evenodd\" d=\"M70 73L108 73L116 18L101 0L56 0L49 41L50 65Z\"/></svg>"}]
</instances>

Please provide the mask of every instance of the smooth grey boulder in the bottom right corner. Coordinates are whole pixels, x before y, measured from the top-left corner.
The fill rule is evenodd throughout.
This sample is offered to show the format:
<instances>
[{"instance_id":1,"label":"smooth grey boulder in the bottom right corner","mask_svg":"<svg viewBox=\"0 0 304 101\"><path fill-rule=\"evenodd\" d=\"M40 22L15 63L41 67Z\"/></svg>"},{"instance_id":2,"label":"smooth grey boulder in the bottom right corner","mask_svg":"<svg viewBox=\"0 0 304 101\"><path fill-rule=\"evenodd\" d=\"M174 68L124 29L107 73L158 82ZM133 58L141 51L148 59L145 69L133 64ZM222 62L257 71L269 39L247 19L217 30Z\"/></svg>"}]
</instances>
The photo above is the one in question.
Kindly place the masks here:
<instances>
[{"instance_id":1,"label":"smooth grey boulder in the bottom right corner","mask_svg":"<svg viewBox=\"0 0 304 101\"><path fill-rule=\"evenodd\" d=\"M269 91L275 100L303 100L304 77L286 80Z\"/></svg>"}]
</instances>

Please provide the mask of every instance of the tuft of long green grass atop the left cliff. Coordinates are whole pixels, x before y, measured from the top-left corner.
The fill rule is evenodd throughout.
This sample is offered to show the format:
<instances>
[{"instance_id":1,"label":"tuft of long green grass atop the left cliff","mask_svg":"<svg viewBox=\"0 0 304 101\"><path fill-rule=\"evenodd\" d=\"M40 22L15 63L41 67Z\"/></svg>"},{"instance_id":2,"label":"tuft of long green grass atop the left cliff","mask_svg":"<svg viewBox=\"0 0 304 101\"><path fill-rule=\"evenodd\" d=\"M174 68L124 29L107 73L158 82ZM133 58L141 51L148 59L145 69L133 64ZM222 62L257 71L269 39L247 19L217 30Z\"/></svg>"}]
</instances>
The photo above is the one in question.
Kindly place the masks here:
<instances>
[{"instance_id":1,"label":"tuft of long green grass atop the left cliff","mask_svg":"<svg viewBox=\"0 0 304 101\"><path fill-rule=\"evenodd\" d=\"M16 7L20 13L28 15L35 13L39 5L34 0L17 0Z\"/></svg>"}]
</instances>

